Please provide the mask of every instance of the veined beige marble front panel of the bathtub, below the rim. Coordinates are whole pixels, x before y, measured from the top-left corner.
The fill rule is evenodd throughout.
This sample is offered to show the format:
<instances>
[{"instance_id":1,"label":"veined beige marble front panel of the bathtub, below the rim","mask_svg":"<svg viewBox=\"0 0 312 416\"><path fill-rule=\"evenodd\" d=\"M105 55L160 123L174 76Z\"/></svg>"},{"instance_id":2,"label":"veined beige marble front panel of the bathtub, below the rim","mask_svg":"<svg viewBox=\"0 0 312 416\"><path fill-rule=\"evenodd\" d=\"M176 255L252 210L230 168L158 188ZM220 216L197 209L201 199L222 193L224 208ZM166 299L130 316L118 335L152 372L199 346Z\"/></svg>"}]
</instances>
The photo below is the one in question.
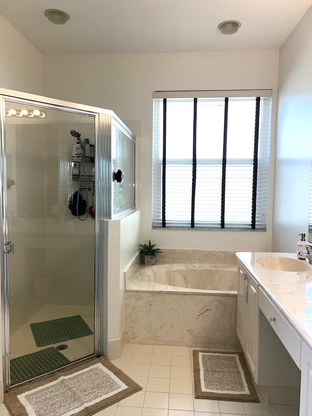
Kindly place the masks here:
<instances>
[{"instance_id":1,"label":"veined beige marble front panel of the bathtub, below the rim","mask_svg":"<svg viewBox=\"0 0 312 416\"><path fill-rule=\"evenodd\" d=\"M126 292L128 343L239 348L236 295Z\"/></svg>"}]
</instances>

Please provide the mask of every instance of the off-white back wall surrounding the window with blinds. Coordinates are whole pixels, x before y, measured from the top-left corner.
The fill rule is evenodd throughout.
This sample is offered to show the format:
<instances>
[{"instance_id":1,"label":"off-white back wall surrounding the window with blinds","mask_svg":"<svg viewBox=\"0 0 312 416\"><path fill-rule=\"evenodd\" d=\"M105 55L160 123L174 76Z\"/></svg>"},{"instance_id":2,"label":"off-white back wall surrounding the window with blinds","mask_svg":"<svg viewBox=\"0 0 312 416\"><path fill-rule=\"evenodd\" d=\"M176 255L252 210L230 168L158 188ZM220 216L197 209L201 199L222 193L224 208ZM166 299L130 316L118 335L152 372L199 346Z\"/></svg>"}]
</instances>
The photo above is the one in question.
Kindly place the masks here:
<instances>
[{"instance_id":1,"label":"off-white back wall surrounding the window with blinds","mask_svg":"<svg viewBox=\"0 0 312 416\"><path fill-rule=\"evenodd\" d=\"M272 242L273 163L267 232L152 230L152 94L154 90L273 89L273 132L278 51L145 55L44 56L44 94L109 108L142 121L141 242L162 248L269 251ZM274 148L274 133L273 133ZM273 149L274 150L274 149Z\"/></svg>"}]
</instances>

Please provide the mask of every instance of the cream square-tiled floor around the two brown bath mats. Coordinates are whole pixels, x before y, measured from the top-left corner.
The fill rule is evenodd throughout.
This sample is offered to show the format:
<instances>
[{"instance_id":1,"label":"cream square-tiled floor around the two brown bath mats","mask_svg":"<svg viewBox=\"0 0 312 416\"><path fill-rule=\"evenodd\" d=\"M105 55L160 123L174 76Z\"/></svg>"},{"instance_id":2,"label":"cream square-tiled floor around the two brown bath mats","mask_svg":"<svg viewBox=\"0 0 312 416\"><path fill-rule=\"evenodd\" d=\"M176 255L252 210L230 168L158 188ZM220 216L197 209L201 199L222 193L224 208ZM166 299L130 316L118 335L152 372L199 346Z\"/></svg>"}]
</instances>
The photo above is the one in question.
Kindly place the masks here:
<instances>
[{"instance_id":1,"label":"cream square-tiled floor around the two brown bath mats","mask_svg":"<svg viewBox=\"0 0 312 416\"><path fill-rule=\"evenodd\" d=\"M122 356L112 362L143 387L96 416L298 416L292 407L267 406L193 396L190 347L126 344ZM261 393L258 391L258 395ZM0 416L8 416L0 405Z\"/></svg>"}]
</instances>

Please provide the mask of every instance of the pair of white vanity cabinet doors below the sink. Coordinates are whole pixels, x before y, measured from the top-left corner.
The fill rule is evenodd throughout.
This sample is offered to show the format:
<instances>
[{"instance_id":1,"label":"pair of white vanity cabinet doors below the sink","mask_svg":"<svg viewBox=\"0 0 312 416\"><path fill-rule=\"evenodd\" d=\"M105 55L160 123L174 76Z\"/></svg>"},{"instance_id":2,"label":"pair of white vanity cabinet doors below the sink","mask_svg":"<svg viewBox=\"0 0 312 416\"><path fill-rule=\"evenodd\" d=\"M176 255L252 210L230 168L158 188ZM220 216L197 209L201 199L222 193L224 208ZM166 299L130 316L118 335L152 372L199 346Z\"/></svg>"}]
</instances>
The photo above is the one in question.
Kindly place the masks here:
<instances>
[{"instance_id":1,"label":"pair of white vanity cabinet doors below the sink","mask_svg":"<svg viewBox=\"0 0 312 416\"><path fill-rule=\"evenodd\" d=\"M238 263L236 334L245 353L254 381L259 381L258 285Z\"/></svg>"}]
</instances>

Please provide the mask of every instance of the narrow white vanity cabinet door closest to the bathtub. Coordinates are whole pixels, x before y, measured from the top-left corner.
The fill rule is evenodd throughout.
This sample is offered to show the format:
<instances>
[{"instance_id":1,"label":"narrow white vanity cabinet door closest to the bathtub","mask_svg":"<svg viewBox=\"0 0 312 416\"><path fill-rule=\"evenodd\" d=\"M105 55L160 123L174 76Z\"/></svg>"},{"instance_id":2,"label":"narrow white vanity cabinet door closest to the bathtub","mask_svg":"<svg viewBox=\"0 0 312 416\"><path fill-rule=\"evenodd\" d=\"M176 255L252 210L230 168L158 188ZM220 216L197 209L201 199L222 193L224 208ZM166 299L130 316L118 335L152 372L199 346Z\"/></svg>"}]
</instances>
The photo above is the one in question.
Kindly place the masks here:
<instances>
[{"instance_id":1,"label":"narrow white vanity cabinet door closest to the bathtub","mask_svg":"<svg viewBox=\"0 0 312 416\"><path fill-rule=\"evenodd\" d=\"M236 334L239 342L245 352L247 337L247 303L245 303L244 288L247 282L247 274L244 269L238 267L238 285L237 285L237 307L236 307Z\"/></svg>"}]
</instances>

